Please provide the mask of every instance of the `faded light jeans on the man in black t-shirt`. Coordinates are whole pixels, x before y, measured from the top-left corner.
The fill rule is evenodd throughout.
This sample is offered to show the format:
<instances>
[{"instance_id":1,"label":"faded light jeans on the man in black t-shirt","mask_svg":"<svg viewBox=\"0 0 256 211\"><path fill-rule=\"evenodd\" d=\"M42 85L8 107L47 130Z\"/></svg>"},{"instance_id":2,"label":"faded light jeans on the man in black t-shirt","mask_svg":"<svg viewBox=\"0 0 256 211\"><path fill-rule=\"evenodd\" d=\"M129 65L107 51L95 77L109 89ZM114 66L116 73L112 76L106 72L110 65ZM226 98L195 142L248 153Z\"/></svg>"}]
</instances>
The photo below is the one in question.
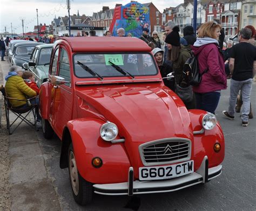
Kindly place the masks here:
<instances>
[{"instance_id":1,"label":"faded light jeans on the man in black t-shirt","mask_svg":"<svg viewBox=\"0 0 256 211\"><path fill-rule=\"evenodd\" d=\"M241 90L242 94L242 121L248 121L248 114L250 113L250 96L252 92L252 81L253 79L247 80L233 80L231 79L230 84L230 106L228 107L228 114L234 116L235 113L235 104L237 102L237 96L239 90Z\"/></svg>"}]
</instances>

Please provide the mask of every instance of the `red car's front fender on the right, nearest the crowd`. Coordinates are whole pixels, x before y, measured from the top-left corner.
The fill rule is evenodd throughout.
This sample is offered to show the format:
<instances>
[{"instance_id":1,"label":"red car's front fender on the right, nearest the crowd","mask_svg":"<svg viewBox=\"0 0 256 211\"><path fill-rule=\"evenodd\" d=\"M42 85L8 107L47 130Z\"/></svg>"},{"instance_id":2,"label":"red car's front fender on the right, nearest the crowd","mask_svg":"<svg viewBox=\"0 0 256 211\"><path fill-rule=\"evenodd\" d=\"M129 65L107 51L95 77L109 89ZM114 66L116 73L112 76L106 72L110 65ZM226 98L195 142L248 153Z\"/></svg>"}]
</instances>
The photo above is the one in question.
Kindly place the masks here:
<instances>
[{"instance_id":1,"label":"red car's front fender on the right, nearest the crowd","mask_svg":"<svg viewBox=\"0 0 256 211\"><path fill-rule=\"evenodd\" d=\"M203 110L189 110L193 131L200 131L203 127L200 122L200 115L207 114ZM214 151L214 144L219 143L221 146L220 151ZM194 168L200 167L201 161L204 156L208 157L208 167L218 166L223 162L225 157L225 139L223 131L217 122L217 125L212 130L204 130L201 134L194 134Z\"/></svg>"}]
</instances>

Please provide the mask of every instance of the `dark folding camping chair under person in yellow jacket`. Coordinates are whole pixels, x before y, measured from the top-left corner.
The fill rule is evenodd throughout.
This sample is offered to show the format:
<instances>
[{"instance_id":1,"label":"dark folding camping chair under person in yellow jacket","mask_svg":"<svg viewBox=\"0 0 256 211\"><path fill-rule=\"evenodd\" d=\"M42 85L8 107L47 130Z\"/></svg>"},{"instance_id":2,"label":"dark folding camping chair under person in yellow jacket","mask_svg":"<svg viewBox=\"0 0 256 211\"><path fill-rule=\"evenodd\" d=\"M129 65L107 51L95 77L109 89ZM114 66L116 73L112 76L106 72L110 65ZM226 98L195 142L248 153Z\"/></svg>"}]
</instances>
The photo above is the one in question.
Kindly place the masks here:
<instances>
[{"instance_id":1,"label":"dark folding camping chair under person in yellow jacket","mask_svg":"<svg viewBox=\"0 0 256 211\"><path fill-rule=\"evenodd\" d=\"M19 125L24 121L26 124L28 124L30 127L32 127L34 130L38 131L37 124L36 124L36 107L37 104L31 105L30 100L36 100L36 97L26 99L26 100L19 100L16 98L10 98L8 97L5 88L3 85L0 87L0 90L4 96L4 107L5 107L5 115L6 115L6 123L7 128L9 131L9 134L14 133L14 131L18 128ZM12 104L10 103L10 100L18 100L18 101L25 101L29 106L27 108L19 108L19 107L12 107ZM17 117L14 121L10 122L10 111L14 113ZM29 114L33 113L33 121L29 120ZM18 125L14 125L16 120L19 119ZM12 129L13 127L14 129Z\"/></svg>"}]
</instances>

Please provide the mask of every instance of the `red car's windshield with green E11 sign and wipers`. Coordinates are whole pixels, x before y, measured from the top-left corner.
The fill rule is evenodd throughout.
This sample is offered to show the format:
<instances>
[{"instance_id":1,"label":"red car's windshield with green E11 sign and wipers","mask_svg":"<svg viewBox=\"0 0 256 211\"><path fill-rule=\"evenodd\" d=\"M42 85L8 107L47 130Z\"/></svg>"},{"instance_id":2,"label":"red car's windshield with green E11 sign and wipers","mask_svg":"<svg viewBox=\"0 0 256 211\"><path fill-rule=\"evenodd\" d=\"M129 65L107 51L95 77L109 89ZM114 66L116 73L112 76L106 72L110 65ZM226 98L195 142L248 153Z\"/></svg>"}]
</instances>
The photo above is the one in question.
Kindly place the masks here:
<instances>
[{"instance_id":1,"label":"red car's windshield with green E11 sign and wipers","mask_svg":"<svg viewBox=\"0 0 256 211\"><path fill-rule=\"evenodd\" d=\"M89 67L101 77L135 77L155 75L158 69L150 53L77 54L75 74L79 78L95 78ZM83 65L81 65L81 63Z\"/></svg>"}]
</instances>

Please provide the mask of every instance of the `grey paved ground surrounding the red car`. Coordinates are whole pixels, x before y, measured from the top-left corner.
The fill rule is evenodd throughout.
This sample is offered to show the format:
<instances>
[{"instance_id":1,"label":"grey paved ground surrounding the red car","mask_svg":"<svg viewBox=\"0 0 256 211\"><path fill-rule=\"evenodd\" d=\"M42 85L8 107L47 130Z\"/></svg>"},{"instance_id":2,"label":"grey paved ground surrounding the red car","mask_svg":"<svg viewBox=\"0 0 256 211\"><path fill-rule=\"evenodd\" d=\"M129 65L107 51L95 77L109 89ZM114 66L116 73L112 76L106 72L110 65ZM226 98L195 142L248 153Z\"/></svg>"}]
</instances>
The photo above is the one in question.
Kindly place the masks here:
<instances>
[{"instance_id":1,"label":"grey paved ground surrounding the red car","mask_svg":"<svg viewBox=\"0 0 256 211\"><path fill-rule=\"evenodd\" d=\"M127 210L130 202L140 204L139 210L256 210L256 116L248 127L241 126L238 113L233 121L225 119L221 111L227 110L228 94L229 90L221 92L216 111L226 141L223 174L217 179L175 193L136 198L95 194L91 205L80 207L73 201L68 169L58 165L59 139L46 140L42 131L22 135L24 126L10 136L12 210ZM256 115L255 83L252 105Z\"/></svg>"}]
</instances>

